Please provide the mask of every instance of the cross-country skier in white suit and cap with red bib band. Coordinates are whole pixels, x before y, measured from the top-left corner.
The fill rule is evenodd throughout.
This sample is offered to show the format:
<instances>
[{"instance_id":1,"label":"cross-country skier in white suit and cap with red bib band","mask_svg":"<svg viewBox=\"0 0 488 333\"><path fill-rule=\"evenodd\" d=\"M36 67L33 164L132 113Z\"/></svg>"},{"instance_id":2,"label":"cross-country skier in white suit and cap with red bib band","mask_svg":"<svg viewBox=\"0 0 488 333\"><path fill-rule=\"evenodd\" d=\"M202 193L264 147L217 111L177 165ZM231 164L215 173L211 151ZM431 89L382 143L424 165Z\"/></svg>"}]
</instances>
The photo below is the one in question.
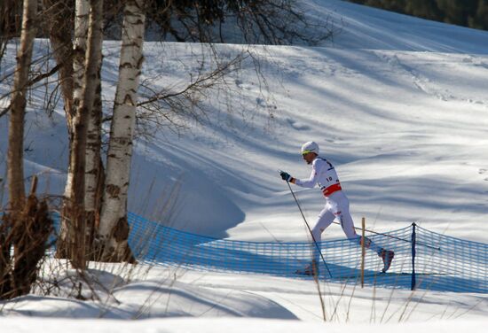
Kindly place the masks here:
<instances>
[{"instance_id":1,"label":"cross-country skier in white suit and cap with red bib band","mask_svg":"<svg viewBox=\"0 0 488 333\"><path fill-rule=\"evenodd\" d=\"M351 241L360 244L361 236L356 234L354 222L352 221L349 212L349 200L342 191L341 182L339 182L339 177L335 172L335 168L327 159L319 157L319 145L313 141L303 143L302 156L307 164L311 164L311 176L309 179L296 179L284 171L281 171L279 175L284 181L292 182L295 185L305 188L313 188L315 184L318 183L320 190L322 190L324 197L326 197L326 206L319 213L319 218L315 223L315 226L311 229L313 241L320 242L322 232L333 221L338 220L340 221L342 230L346 236ZM378 256L383 260L382 272L386 272L388 268L390 268L395 253L374 244L369 238L365 239L365 246L378 253ZM317 275L319 273L319 256L320 253L317 246L314 246L311 264L303 270L297 271L297 273Z\"/></svg>"}]
</instances>

